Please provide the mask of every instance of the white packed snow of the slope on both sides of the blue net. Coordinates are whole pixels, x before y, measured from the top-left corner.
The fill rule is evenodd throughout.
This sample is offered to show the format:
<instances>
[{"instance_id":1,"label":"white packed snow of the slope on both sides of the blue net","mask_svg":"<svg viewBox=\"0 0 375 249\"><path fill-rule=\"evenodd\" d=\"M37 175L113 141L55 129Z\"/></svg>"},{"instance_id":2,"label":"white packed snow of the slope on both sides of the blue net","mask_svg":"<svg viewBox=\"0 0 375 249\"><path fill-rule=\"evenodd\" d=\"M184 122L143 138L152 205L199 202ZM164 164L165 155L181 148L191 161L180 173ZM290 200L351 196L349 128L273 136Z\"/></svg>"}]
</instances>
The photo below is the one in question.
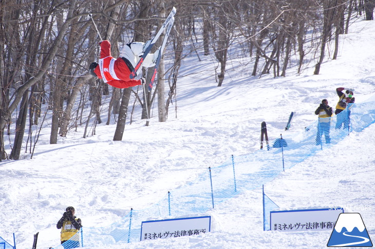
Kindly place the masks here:
<instances>
[{"instance_id":1,"label":"white packed snow of the slope on both sides of the blue net","mask_svg":"<svg viewBox=\"0 0 375 249\"><path fill-rule=\"evenodd\" d=\"M194 183L209 166L259 150L262 121L272 141L280 133L302 133L317 119L323 98L335 109L337 87L354 88L356 103L366 101L375 94L374 44L375 23L358 20L342 35L338 58L325 60L319 75L313 75L311 61L301 75L292 64L287 77L252 77L244 55L228 64L222 87L216 87L213 57L186 57L168 120L158 122L155 107L149 126L134 118L122 141L113 141L113 116L105 125L109 97L103 96L96 135L90 131L82 138L82 126L49 144L49 130L43 129L32 158L23 150L20 160L0 162L0 236L13 244L14 233L17 248L31 248L39 232L37 248L58 246L56 223L69 205L84 227L112 224L130 208L147 208L168 191ZM284 131L291 111L296 115ZM345 206L345 212L361 214L374 241L374 141L373 124L352 132L267 182L265 193L283 210ZM8 154L10 146L8 141ZM87 248L324 248L331 234L263 231L261 185L200 215L213 217L210 233Z\"/></svg>"}]
</instances>

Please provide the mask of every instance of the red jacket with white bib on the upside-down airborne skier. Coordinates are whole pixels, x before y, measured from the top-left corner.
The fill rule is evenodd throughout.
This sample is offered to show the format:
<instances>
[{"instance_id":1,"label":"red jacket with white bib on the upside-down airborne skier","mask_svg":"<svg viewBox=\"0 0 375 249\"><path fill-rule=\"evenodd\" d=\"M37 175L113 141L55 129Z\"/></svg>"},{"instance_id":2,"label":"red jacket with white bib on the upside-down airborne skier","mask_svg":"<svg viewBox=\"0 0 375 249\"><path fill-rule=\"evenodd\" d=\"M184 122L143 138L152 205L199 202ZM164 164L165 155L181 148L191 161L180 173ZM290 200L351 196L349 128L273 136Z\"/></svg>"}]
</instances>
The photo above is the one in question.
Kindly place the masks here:
<instances>
[{"instance_id":1,"label":"red jacket with white bib on the upside-down airborne skier","mask_svg":"<svg viewBox=\"0 0 375 249\"><path fill-rule=\"evenodd\" d=\"M108 85L116 88L128 88L141 85L141 80L130 79L130 69L123 58L115 59L110 55L110 42L100 43L99 65L94 73Z\"/></svg>"}]
</instances>

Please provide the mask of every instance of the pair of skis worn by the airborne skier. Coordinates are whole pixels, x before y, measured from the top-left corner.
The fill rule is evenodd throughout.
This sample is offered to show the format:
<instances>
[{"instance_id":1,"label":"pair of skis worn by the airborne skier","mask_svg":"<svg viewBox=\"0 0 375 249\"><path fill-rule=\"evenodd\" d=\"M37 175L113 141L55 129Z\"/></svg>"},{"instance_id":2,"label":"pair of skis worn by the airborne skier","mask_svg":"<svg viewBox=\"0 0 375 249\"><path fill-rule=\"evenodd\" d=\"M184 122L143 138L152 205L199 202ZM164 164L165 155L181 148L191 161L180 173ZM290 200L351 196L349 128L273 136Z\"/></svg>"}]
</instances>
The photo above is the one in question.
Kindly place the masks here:
<instances>
[{"instance_id":1,"label":"pair of skis worn by the airborne skier","mask_svg":"<svg viewBox=\"0 0 375 249\"><path fill-rule=\"evenodd\" d=\"M167 16L167 18L165 19L165 22L163 23L163 25L161 26L159 31L156 33L154 38L151 41L146 43L146 46L144 48L142 57L138 61L137 65L134 67L133 72L130 73L130 76L129 76L130 79L134 79L137 76L137 72L138 72L139 68L142 66L143 60L146 58L147 54L151 51L151 49L153 48L156 41L159 39L160 35L165 30L163 42L161 44L158 57L155 61L154 73L153 73L153 76L151 77L151 81L148 84L148 91L151 91L151 89L153 88L155 76L156 76L156 73L158 72L158 67L159 67L159 64L160 64L161 56L162 56L162 53L163 53L165 45L166 45L166 40L168 39L168 36L171 33L172 26L173 26L173 23L175 21L175 18L174 18L175 14L176 14L176 8L173 7L171 13Z\"/></svg>"}]
</instances>

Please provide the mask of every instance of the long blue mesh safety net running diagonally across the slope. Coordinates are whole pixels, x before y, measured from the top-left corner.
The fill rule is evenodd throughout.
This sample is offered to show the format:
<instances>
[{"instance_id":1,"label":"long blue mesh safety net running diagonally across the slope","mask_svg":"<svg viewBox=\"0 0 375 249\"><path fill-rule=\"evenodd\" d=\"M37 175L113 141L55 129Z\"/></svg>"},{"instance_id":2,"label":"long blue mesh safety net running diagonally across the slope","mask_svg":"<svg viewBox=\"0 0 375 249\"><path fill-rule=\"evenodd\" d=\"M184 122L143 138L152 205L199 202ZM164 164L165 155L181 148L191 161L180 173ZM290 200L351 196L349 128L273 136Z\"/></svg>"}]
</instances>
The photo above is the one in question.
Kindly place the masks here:
<instances>
[{"instance_id":1,"label":"long blue mesh safety net running diagonally across the slope","mask_svg":"<svg viewBox=\"0 0 375 249\"><path fill-rule=\"evenodd\" d=\"M363 103L349 104L337 115L318 118L301 133L288 131L271 143L270 150L231 156L228 161L211 167L196 180L166 194L158 203L146 209L129 211L127 216L114 224L83 227L79 234L81 246L140 241L142 221L205 213L241 191L260 188L280 172L339 143L350 132L361 132L374 122L375 96ZM269 199L268 203L271 202ZM275 203L271 205L276 206ZM62 249L63 245L54 248Z\"/></svg>"}]
</instances>

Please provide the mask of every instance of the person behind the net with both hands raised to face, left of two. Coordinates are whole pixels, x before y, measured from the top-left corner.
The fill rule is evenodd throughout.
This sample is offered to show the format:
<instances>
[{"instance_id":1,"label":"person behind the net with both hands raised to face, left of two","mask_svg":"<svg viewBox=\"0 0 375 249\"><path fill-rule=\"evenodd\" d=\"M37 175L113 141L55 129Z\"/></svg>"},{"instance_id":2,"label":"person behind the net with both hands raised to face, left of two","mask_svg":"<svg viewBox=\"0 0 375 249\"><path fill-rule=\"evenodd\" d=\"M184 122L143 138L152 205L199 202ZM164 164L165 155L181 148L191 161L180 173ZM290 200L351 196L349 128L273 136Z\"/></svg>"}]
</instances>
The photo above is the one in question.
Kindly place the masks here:
<instances>
[{"instance_id":1,"label":"person behind the net with both hands raised to face, left of two","mask_svg":"<svg viewBox=\"0 0 375 249\"><path fill-rule=\"evenodd\" d=\"M323 133L326 143L330 143L329 129L331 128L332 107L328 106L327 99L322 100L321 105L315 110L315 114L319 117L315 139L316 145L322 144Z\"/></svg>"}]
</instances>

